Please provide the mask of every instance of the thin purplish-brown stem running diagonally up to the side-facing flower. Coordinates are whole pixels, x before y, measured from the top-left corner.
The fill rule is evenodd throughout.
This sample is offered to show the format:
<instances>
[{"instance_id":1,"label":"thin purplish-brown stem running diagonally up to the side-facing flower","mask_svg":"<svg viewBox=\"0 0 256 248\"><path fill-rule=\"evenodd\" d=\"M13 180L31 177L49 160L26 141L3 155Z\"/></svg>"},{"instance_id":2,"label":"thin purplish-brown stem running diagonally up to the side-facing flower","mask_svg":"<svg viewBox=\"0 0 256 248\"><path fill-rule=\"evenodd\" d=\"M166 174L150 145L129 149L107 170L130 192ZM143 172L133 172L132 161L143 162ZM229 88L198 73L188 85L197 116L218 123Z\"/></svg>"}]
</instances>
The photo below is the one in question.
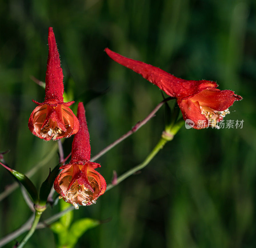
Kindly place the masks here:
<instances>
[{"instance_id":1,"label":"thin purplish-brown stem running diagonally up to the side-facing flower","mask_svg":"<svg viewBox=\"0 0 256 248\"><path fill-rule=\"evenodd\" d=\"M151 118L153 118L155 116L156 112L163 106L163 104L165 102L170 101L172 99L174 99L174 98L173 97L168 97L168 98L164 99L163 101L161 101L160 103L158 103L156 108L153 109L153 111L143 121L140 121L140 122L136 123L135 126L130 131L128 131L123 136L121 136L119 139L117 139L116 141L114 141L113 143L111 143L110 145L105 147L102 151L100 151L98 154L93 156L90 161L93 162L93 161L97 160L99 157L101 157L102 155L107 153L110 149L115 147L117 144L122 142L124 139L128 138L134 132L138 131L143 125L145 125Z\"/></svg>"}]
</instances>

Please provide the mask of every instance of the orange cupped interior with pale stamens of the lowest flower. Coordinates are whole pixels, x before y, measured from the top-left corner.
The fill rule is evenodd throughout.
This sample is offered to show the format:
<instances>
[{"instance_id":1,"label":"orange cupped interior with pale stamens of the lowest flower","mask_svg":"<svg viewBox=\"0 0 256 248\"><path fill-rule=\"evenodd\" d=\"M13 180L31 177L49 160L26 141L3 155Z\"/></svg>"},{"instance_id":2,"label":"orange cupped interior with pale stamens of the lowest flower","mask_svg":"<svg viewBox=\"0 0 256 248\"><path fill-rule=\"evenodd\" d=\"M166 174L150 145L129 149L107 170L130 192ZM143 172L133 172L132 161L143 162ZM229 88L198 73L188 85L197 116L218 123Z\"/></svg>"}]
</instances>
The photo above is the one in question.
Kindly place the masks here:
<instances>
[{"instance_id":1,"label":"orange cupped interior with pale stamens of the lowest flower","mask_svg":"<svg viewBox=\"0 0 256 248\"><path fill-rule=\"evenodd\" d=\"M79 184L78 181L76 180L71 187L68 189L69 184L72 180L73 176L73 168L74 166L78 166L80 170L82 170L82 166L86 165L76 165L74 164L71 166L67 171L64 173L60 173L60 178L59 178L59 185L62 190L62 192L65 193L66 197L64 199L66 201L70 201L72 205L78 209L78 204L79 205L91 205L93 203L96 203L96 199L99 197L100 191L101 191L101 186L99 186L100 178L99 176L93 172L93 169L89 169L89 166L87 168L87 179L89 185L84 185L84 184ZM92 192L92 188L94 192ZM59 196L59 198L63 198L63 196Z\"/></svg>"}]
</instances>

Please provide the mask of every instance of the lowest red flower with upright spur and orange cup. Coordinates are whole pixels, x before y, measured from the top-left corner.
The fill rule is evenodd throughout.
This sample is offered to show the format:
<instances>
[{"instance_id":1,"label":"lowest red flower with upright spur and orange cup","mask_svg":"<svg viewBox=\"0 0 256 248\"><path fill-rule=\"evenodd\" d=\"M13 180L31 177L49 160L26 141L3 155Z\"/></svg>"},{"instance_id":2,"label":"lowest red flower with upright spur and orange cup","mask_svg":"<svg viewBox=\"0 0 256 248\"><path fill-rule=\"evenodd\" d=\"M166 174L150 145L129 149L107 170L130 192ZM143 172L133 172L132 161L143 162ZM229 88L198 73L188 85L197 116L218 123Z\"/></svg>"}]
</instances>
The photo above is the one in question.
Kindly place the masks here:
<instances>
[{"instance_id":1,"label":"lowest red flower with upright spur and orange cup","mask_svg":"<svg viewBox=\"0 0 256 248\"><path fill-rule=\"evenodd\" d=\"M54 181L54 189L60 194L60 198L76 209L78 204L86 206L95 203L106 190L104 177L95 170L100 164L90 162L90 136L82 102L78 104L77 117L80 128L72 143L71 161L60 167L63 170Z\"/></svg>"}]
</instances>

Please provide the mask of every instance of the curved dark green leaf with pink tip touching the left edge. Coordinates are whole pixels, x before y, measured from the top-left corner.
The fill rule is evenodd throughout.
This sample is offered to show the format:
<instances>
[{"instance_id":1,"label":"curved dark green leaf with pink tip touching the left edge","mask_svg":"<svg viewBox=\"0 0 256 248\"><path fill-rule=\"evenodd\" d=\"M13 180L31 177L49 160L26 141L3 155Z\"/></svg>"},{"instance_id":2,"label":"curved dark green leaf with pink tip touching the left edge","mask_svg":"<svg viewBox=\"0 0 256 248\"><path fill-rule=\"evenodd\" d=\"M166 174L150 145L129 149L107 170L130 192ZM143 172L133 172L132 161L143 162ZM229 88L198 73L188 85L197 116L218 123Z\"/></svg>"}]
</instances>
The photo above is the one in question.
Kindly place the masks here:
<instances>
[{"instance_id":1,"label":"curved dark green leaf with pink tip touching the left edge","mask_svg":"<svg viewBox=\"0 0 256 248\"><path fill-rule=\"evenodd\" d=\"M28 194L30 195L32 201L34 203L38 203L38 194L37 194L37 190L36 190L36 187L35 185L28 179L28 177L26 177L24 174L14 170L14 169L11 169L9 168L8 166L6 166L5 164L1 163L0 164L5 168L7 169L11 174L12 176L14 176L14 178L16 180L18 180L18 182L20 182L24 187L25 189L28 191Z\"/></svg>"}]
</instances>

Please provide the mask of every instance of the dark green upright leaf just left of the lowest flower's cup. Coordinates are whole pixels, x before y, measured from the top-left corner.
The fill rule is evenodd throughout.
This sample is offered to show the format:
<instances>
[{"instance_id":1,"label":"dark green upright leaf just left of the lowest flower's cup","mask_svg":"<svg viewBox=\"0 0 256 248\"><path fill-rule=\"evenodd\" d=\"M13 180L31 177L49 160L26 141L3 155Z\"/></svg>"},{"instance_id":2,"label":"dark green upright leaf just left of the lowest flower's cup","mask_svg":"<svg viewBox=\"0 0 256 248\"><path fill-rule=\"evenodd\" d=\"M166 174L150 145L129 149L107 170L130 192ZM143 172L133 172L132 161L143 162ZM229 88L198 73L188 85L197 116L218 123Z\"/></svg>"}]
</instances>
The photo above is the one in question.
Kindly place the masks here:
<instances>
[{"instance_id":1,"label":"dark green upright leaf just left of the lowest flower's cup","mask_svg":"<svg viewBox=\"0 0 256 248\"><path fill-rule=\"evenodd\" d=\"M52 171L50 169L48 177L42 183L40 192L39 192L39 204L40 205L46 204L47 197L48 197L49 193L51 192L54 180L57 177L57 175L59 174L59 168L60 168L60 164L56 165Z\"/></svg>"}]
</instances>

